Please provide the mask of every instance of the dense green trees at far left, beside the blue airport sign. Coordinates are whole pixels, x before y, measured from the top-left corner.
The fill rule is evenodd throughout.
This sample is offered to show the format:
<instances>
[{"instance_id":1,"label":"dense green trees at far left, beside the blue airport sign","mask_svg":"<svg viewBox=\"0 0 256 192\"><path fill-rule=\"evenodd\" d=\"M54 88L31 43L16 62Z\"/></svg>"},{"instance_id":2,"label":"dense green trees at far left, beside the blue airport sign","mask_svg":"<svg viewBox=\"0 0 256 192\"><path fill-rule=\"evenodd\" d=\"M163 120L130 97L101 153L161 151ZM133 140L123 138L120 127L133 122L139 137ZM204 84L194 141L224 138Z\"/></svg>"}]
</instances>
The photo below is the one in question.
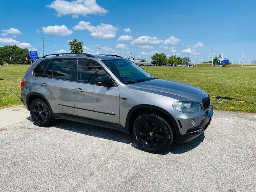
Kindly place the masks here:
<instances>
[{"instance_id":1,"label":"dense green trees at far left, beside the blue airport sign","mask_svg":"<svg viewBox=\"0 0 256 192\"><path fill-rule=\"evenodd\" d=\"M31 64L28 49L19 48L17 45L0 47L0 65L11 64L10 58L12 64L27 64L26 58L28 58L28 64Z\"/></svg>"}]
</instances>

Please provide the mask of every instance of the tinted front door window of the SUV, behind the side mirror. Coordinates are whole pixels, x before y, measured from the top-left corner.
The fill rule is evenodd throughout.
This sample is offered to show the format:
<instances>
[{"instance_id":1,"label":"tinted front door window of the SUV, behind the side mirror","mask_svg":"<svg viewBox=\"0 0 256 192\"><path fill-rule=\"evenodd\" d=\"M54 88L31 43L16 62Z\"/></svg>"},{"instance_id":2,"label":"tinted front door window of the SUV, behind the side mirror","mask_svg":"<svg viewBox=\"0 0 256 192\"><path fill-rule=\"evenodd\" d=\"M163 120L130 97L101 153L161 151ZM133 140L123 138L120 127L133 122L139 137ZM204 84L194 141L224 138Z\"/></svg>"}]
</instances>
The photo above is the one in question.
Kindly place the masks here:
<instances>
[{"instance_id":1,"label":"tinted front door window of the SUV, behind the side mirror","mask_svg":"<svg viewBox=\"0 0 256 192\"><path fill-rule=\"evenodd\" d=\"M97 77L108 76L99 63L86 59L78 59L77 80L81 83L95 84Z\"/></svg>"}]
</instances>

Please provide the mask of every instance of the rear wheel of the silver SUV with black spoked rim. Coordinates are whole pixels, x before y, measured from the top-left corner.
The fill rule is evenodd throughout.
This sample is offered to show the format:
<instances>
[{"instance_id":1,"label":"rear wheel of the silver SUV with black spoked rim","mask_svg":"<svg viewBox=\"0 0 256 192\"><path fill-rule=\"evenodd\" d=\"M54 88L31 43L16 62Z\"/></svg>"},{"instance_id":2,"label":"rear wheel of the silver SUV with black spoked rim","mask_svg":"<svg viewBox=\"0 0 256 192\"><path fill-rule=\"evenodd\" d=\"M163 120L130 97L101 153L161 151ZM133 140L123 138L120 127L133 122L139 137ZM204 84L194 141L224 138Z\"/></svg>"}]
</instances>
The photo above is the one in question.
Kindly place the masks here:
<instances>
[{"instance_id":1,"label":"rear wheel of the silver SUV with black spoked rim","mask_svg":"<svg viewBox=\"0 0 256 192\"><path fill-rule=\"evenodd\" d=\"M35 99L30 105L30 116L34 123L40 127L46 127L53 123L53 116L47 105L42 99Z\"/></svg>"}]
</instances>

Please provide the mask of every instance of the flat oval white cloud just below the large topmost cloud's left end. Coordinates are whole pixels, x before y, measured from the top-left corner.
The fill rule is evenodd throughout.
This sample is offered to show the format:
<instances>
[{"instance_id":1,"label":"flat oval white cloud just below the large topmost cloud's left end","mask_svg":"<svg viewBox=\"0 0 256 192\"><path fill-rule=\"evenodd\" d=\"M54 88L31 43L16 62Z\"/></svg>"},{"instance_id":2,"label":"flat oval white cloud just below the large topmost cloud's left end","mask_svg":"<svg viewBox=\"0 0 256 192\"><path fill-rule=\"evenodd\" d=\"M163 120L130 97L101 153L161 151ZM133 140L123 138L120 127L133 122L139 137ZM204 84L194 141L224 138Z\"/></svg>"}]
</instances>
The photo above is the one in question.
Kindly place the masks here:
<instances>
[{"instance_id":1,"label":"flat oval white cloud just below the large topmost cloud's left end","mask_svg":"<svg viewBox=\"0 0 256 192\"><path fill-rule=\"evenodd\" d=\"M71 35L73 31L68 29L65 25L55 25L55 26L48 26L42 28L43 32L46 34L52 35L60 35L60 36L67 36Z\"/></svg>"}]
</instances>

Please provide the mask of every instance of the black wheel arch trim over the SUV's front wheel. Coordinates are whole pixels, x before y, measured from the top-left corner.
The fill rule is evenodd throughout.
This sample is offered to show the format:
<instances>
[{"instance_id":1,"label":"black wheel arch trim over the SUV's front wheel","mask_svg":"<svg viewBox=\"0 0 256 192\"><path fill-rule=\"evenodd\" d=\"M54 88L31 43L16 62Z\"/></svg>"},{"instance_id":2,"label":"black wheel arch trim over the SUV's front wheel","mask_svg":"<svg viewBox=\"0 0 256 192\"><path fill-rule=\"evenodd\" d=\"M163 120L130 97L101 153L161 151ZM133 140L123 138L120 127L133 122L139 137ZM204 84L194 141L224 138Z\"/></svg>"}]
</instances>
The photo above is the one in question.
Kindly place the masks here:
<instances>
[{"instance_id":1,"label":"black wheel arch trim over the SUV's front wheel","mask_svg":"<svg viewBox=\"0 0 256 192\"><path fill-rule=\"evenodd\" d=\"M131 133L132 128L133 128L133 123L136 120L136 118L139 115L142 115L144 113L153 113L156 115L161 116L164 118L171 126L173 129L173 132L175 134L176 131L179 131L179 127L177 122L175 121L174 117L165 109L155 106L155 105L147 105L147 104L142 104L142 105L136 105L130 109L130 111L127 114L126 121L125 121L125 127L126 129L129 130Z\"/></svg>"}]
</instances>

